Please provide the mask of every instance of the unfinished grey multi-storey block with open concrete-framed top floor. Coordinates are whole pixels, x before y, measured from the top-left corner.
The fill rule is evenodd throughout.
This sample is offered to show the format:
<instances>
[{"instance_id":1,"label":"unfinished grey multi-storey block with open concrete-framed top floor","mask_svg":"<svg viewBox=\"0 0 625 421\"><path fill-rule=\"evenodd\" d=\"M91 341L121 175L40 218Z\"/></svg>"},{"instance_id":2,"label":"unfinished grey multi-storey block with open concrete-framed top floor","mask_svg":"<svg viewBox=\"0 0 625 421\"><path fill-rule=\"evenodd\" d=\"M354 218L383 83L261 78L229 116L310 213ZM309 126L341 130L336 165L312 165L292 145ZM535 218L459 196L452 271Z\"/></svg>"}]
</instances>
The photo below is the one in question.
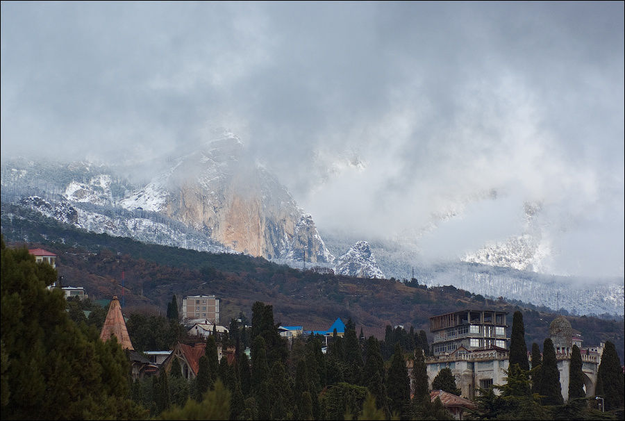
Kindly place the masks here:
<instances>
[{"instance_id":1,"label":"unfinished grey multi-storey block with open concrete-framed top floor","mask_svg":"<svg viewBox=\"0 0 625 421\"><path fill-rule=\"evenodd\" d=\"M492 346L508 349L506 312L462 310L430 317L435 356L451 354L460 347L472 351Z\"/></svg>"}]
</instances>

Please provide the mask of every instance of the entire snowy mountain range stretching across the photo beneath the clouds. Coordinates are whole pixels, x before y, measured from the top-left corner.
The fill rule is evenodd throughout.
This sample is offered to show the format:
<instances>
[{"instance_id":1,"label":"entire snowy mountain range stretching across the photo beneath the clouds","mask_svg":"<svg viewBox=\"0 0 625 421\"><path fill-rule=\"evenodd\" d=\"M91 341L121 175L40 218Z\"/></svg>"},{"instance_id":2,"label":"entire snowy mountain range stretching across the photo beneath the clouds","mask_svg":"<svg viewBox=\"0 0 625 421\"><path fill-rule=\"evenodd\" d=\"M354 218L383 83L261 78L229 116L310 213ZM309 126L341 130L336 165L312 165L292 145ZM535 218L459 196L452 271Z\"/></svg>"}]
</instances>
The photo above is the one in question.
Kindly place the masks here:
<instances>
[{"instance_id":1,"label":"entire snowy mountain range stretching across the photo beneath the clouds","mask_svg":"<svg viewBox=\"0 0 625 421\"><path fill-rule=\"evenodd\" d=\"M344 162L356 171L366 167L357 158ZM623 315L622 278L549 272L558 250L540 201L519 206L516 199L490 190L441 208L418 231L363 238L350 233L349 226L319 233L313 215L227 131L154 160L151 176L146 174L137 176L123 163L15 158L1 166L1 195L3 203L96 233L262 256L293 267L318 265L349 276L397 280L415 276L428 286L453 285L574 314ZM493 206L508 210L508 221L498 216L497 224L506 222L513 235L499 237L498 227L477 226L481 233L468 242L453 237L458 231L453 224L494 218L498 214L493 214ZM468 251L458 252L462 250Z\"/></svg>"}]
</instances>

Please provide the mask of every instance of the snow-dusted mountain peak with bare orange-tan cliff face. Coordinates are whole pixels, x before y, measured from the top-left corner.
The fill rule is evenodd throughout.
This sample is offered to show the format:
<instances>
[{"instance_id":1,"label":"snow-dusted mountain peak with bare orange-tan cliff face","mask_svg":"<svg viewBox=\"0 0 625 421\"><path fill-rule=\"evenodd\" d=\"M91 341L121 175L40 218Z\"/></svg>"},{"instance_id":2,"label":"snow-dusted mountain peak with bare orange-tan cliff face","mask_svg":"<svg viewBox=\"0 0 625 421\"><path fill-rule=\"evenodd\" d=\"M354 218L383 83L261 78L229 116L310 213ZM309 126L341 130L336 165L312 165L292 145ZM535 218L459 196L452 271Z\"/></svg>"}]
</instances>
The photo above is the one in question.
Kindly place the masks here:
<instances>
[{"instance_id":1,"label":"snow-dusted mountain peak with bare orange-tan cliff face","mask_svg":"<svg viewBox=\"0 0 625 421\"><path fill-rule=\"evenodd\" d=\"M312 216L249 161L235 135L225 133L167 164L149 181L133 183L114 165L10 160L1 171L3 201L144 242L333 263Z\"/></svg>"}]
</instances>

